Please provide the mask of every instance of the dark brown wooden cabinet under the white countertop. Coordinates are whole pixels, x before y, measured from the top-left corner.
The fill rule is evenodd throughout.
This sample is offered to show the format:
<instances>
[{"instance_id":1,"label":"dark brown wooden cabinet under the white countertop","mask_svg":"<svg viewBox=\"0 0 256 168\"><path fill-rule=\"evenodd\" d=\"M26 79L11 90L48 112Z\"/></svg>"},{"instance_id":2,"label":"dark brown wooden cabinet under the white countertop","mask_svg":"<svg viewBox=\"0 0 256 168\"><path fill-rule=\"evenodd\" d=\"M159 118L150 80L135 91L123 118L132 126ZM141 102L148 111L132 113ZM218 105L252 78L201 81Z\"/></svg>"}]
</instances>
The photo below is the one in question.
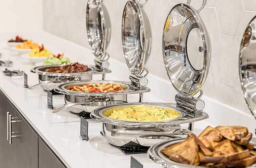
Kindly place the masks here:
<instances>
[{"instance_id":1,"label":"dark brown wooden cabinet under the white countertop","mask_svg":"<svg viewBox=\"0 0 256 168\"><path fill-rule=\"evenodd\" d=\"M12 127L11 144L7 140L8 126ZM0 168L65 168L1 91Z\"/></svg>"}]
</instances>

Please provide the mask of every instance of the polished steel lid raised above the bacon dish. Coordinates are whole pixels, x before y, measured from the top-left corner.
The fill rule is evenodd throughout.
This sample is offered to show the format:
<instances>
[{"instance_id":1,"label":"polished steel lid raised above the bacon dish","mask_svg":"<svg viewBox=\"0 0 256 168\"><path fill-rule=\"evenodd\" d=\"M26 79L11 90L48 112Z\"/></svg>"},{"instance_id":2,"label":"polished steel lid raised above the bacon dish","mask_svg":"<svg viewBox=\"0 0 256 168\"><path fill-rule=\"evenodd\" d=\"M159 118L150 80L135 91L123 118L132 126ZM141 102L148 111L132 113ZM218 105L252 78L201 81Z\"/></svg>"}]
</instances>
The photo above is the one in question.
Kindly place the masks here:
<instances>
[{"instance_id":1,"label":"polished steel lid raised above the bacon dish","mask_svg":"<svg viewBox=\"0 0 256 168\"><path fill-rule=\"evenodd\" d=\"M107 60L106 49L111 38L111 23L103 0L88 0L86 8L86 29L90 49L96 58Z\"/></svg>"}]
</instances>

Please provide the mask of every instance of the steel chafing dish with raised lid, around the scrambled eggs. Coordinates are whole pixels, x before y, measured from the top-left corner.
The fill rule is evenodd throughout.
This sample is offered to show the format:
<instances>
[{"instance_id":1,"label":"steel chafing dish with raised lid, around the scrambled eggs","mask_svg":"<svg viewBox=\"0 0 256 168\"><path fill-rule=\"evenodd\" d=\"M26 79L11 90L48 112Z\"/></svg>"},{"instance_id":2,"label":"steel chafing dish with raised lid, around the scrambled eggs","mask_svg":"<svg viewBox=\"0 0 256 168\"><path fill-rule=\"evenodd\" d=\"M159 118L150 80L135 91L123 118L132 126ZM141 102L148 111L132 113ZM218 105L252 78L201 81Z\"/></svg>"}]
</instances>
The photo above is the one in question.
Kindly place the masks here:
<instances>
[{"instance_id":1,"label":"steel chafing dish with raised lid, around the scrambled eggs","mask_svg":"<svg viewBox=\"0 0 256 168\"><path fill-rule=\"evenodd\" d=\"M137 2L128 1L124 11L130 3ZM126 12L123 18L125 15ZM178 92L176 103L124 103L95 109L90 116L102 122L102 133L110 144L122 146L132 141L151 146L160 139L182 137L193 130L194 122L208 118L208 114L202 111L204 101L200 98L210 66L211 44L198 11L188 4L174 6L166 19L162 42L166 72ZM193 97L197 93L199 96ZM180 112L181 116L164 122L126 122L108 118L113 109L142 104L170 108ZM181 129L180 124L184 123L188 123L188 130Z\"/></svg>"}]
</instances>

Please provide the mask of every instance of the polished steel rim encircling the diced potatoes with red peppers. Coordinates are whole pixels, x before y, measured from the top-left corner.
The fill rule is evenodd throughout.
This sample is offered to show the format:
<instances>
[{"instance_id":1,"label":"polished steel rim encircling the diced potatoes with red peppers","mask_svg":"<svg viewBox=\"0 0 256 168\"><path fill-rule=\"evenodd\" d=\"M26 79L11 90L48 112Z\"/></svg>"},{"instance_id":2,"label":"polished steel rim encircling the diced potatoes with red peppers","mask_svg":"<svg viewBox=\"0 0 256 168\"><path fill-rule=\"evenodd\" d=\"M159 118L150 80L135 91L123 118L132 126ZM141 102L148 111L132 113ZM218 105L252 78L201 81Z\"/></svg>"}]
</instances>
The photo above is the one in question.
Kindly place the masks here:
<instances>
[{"instance_id":1,"label":"polished steel rim encircling the diced potatoes with red peppers","mask_svg":"<svg viewBox=\"0 0 256 168\"><path fill-rule=\"evenodd\" d=\"M116 92L106 92L106 93L90 93L90 92L76 92L76 91L67 89L67 88L70 88L71 86L77 86L77 85L82 86L84 84L89 84L89 83L116 83L116 84L120 84L124 88L124 90L116 91ZM150 92L150 89L147 87L144 87L142 90L133 90L130 87L129 83L122 82L122 81L114 81L114 80L80 80L76 82L68 82L68 83L60 84L54 90L61 94L68 94L68 95L74 95L74 96L95 96L95 97Z\"/></svg>"}]
</instances>

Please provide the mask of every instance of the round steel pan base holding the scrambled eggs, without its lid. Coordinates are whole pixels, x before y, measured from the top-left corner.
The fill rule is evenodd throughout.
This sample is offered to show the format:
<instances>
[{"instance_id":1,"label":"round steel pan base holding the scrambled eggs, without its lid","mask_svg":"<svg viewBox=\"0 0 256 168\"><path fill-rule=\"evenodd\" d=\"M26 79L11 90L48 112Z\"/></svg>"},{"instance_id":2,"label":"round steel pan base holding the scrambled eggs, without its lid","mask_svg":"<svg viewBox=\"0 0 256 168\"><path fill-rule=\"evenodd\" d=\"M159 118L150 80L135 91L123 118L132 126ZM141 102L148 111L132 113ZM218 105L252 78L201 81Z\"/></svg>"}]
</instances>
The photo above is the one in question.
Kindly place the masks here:
<instances>
[{"instance_id":1,"label":"round steel pan base holding the scrambled eggs, without its lid","mask_svg":"<svg viewBox=\"0 0 256 168\"><path fill-rule=\"evenodd\" d=\"M146 106L157 106L165 109L176 110L181 114L181 116L173 120L160 122L129 122L108 118L108 115L111 114L113 109L125 108L126 106L140 106L142 104ZM90 116L92 119L102 122L103 135L110 144L115 146L123 146L131 141L143 146L145 146L144 144L146 144L146 146L150 146L154 144L153 142L156 142L153 140L155 136L166 137L167 135L172 135L175 137L182 137L184 134L188 133L188 131L180 129L180 124L208 118L208 114L205 112L190 114L180 108L176 108L176 104L170 103L122 103L97 108L91 112ZM151 140L144 138L148 135L153 138ZM159 138L156 139L159 140Z\"/></svg>"}]
</instances>

